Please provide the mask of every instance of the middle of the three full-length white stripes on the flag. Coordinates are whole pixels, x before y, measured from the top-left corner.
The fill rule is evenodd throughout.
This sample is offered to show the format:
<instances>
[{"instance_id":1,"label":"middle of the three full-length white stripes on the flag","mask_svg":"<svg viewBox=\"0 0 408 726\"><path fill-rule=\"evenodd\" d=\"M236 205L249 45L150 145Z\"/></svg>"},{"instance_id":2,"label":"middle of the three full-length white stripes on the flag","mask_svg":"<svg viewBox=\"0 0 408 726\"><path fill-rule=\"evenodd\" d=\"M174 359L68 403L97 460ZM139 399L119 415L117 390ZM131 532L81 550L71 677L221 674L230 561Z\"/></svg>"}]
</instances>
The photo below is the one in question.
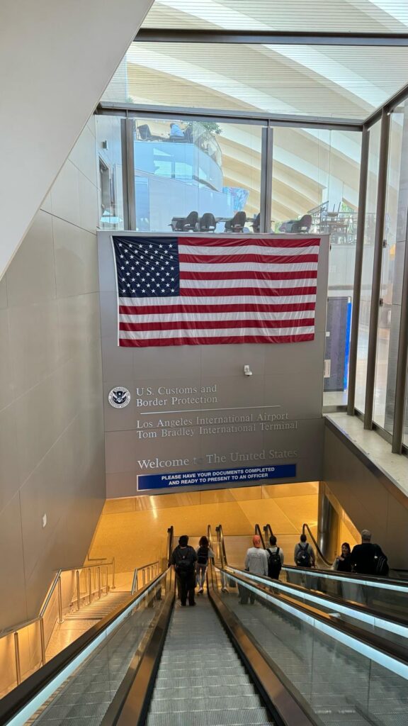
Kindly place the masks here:
<instances>
[{"instance_id":1,"label":"middle of the three full-length white stripes on the flag","mask_svg":"<svg viewBox=\"0 0 408 726\"><path fill-rule=\"evenodd\" d=\"M257 312L236 312L236 313L152 313L144 314L142 319L138 315L119 315L120 322L213 322L217 320L302 320L314 318L314 310L298 310L283 313L257 313Z\"/></svg>"}]
</instances>

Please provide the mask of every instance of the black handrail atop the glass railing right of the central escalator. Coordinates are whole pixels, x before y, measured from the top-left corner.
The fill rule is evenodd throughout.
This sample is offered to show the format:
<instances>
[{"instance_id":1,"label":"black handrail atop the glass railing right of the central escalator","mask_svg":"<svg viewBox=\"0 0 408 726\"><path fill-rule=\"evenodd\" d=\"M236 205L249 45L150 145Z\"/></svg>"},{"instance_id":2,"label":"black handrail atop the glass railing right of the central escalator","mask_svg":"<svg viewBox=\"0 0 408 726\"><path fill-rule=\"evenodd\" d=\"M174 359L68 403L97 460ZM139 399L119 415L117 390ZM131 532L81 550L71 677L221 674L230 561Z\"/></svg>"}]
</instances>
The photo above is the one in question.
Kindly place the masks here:
<instances>
[{"instance_id":1,"label":"black handrail atop the glass railing right of the central escalator","mask_svg":"<svg viewBox=\"0 0 408 726\"><path fill-rule=\"evenodd\" d=\"M372 633L368 630L362 630L356 625L352 625L345 621L341 621L341 623L338 623L335 621L335 619L332 618L332 616L330 616L330 613L324 613L323 611L319 611L314 605L299 603L298 600L293 600L290 595L278 595L276 592L271 592L269 585L263 585L260 582L255 585L253 581L256 581L256 579L260 577L258 575L250 574L245 571L240 571L239 575L229 572L229 577L232 577L232 579L236 579L237 582L240 582L240 584L244 586L245 584L247 586L249 584L250 587L256 587L256 590L264 593L264 595L267 596L267 599L269 599L269 597L273 597L274 600L280 600L280 602L282 603L290 603L290 606L294 610L299 611L299 617L302 618L305 615L312 617L315 620L318 620L319 622L325 624L326 626L335 629L340 633L340 635L349 635L355 640L359 640L362 645L367 645L370 648L375 648L375 650L380 651L380 653L383 653L385 656L393 658L393 660L399 661L401 664L408 667L407 648L397 645L392 641L385 640L385 638L381 637L380 635L375 635L375 633Z\"/></svg>"}]
</instances>

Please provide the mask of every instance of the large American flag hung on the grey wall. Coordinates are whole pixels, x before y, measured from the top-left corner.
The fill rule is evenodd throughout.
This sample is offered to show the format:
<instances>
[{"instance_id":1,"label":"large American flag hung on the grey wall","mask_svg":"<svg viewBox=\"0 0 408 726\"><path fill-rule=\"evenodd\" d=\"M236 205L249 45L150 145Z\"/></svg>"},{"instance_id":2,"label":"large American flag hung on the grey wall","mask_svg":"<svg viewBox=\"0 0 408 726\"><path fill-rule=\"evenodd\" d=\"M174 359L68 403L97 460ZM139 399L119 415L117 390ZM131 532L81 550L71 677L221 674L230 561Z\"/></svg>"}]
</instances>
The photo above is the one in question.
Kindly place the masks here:
<instances>
[{"instance_id":1,"label":"large American flag hung on the grey wall","mask_svg":"<svg viewBox=\"0 0 408 726\"><path fill-rule=\"evenodd\" d=\"M119 346L314 339L319 238L112 239Z\"/></svg>"}]
</instances>

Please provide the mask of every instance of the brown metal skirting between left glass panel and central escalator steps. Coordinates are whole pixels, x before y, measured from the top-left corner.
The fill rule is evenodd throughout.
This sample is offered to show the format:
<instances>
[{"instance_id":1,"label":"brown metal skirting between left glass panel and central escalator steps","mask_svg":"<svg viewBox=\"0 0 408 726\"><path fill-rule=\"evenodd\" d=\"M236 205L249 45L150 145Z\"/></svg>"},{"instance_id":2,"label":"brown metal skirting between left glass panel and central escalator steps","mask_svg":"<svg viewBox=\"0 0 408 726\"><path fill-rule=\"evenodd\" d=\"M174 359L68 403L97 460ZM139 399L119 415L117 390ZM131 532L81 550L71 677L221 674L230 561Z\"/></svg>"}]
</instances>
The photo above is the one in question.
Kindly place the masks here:
<instances>
[{"instance_id":1,"label":"brown metal skirting between left glass panel and central escalator steps","mask_svg":"<svg viewBox=\"0 0 408 726\"><path fill-rule=\"evenodd\" d=\"M171 568L170 568L171 576ZM136 653L100 726L144 726L175 600L175 580L139 658Z\"/></svg>"}]
</instances>

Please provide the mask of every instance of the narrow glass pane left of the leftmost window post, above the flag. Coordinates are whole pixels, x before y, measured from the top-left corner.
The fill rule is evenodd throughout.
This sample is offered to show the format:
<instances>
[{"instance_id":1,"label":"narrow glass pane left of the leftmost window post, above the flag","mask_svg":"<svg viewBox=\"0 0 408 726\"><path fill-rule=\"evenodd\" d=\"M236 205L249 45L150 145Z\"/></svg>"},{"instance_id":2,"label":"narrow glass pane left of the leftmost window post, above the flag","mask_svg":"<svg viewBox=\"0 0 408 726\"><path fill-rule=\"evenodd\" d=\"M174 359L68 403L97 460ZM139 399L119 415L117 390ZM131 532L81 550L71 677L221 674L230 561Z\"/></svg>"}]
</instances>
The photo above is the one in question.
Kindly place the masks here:
<instances>
[{"instance_id":1,"label":"narrow glass pane left of the leftmost window post, above the flag","mask_svg":"<svg viewBox=\"0 0 408 726\"><path fill-rule=\"evenodd\" d=\"M118 116L96 116L99 229L123 229L122 121Z\"/></svg>"}]
</instances>

